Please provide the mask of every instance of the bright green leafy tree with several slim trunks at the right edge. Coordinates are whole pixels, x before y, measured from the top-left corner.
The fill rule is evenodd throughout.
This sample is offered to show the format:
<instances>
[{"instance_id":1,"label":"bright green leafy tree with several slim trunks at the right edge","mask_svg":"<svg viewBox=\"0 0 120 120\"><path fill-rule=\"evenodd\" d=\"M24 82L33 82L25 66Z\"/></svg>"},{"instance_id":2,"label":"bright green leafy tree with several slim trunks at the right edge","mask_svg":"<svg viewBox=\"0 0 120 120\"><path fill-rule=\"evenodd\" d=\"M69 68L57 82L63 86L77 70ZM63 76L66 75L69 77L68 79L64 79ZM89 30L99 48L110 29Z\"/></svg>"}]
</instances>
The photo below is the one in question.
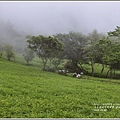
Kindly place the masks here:
<instances>
[{"instance_id":1,"label":"bright green leafy tree with several slim trunks at the right edge","mask_svg":"<svg viewBox=\"0 0 120 120\"><path fill-rule=\"evenodd\" d=\"M104 65L109 66L110 79L113 77L113 71L120 69L120 43L109 39L109 37L99 40L97 45L98 55L97 62L103 65L101 74L104 70Z\"/></svg>"}]
</instances>

